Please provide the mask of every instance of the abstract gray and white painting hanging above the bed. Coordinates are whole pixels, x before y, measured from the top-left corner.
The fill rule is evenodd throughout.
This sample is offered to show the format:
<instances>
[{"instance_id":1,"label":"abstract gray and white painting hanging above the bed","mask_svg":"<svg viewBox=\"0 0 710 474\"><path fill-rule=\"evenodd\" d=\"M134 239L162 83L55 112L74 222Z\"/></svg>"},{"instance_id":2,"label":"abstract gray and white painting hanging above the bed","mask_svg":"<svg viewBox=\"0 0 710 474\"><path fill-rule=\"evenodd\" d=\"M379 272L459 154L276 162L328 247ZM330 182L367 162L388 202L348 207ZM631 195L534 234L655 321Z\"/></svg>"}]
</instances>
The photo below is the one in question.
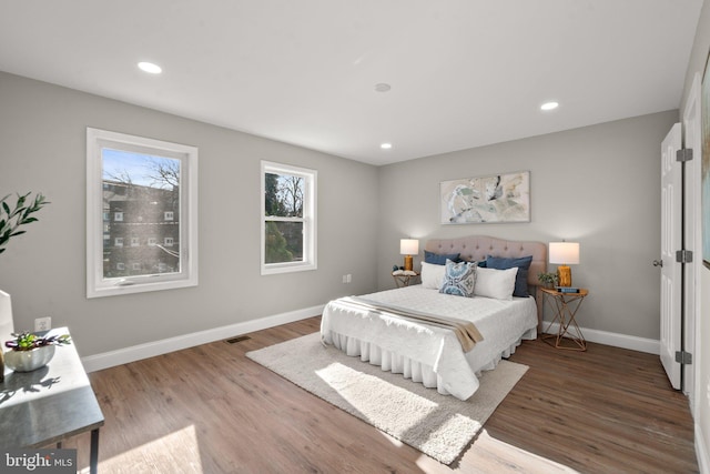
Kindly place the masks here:
<instances>
[{"instance_id":1,"label":"abstract gray and white painting hanging above the bed","mask_svg":"<svg viewBox=\"0 0 710 474\"><path fill-rule=\"evenodd\" d=\"M442 181L442 224L530 222L530 172Z\"/></svg>"}]
</instances>

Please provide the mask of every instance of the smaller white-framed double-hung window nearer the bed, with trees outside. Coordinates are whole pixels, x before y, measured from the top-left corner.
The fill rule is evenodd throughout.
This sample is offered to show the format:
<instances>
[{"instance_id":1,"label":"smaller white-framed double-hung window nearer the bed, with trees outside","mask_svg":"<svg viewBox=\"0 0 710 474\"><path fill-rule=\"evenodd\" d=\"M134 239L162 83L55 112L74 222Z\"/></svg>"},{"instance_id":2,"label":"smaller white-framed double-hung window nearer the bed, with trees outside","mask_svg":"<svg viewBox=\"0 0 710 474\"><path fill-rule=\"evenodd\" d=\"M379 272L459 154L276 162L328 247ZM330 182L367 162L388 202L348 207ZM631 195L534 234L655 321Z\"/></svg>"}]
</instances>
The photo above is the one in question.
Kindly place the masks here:
<instances>
[{"instance_id":1,"label":"smaller white-framed double-hung window nearer the bed, with trees outside","mask_svg":"<svg viewBox=\"0 0 710 474\"><path fill-rule=\"evenodd\" d=\"M262 274L315 270L317 172L262 161Z\"/></svg>"}]
</instances>

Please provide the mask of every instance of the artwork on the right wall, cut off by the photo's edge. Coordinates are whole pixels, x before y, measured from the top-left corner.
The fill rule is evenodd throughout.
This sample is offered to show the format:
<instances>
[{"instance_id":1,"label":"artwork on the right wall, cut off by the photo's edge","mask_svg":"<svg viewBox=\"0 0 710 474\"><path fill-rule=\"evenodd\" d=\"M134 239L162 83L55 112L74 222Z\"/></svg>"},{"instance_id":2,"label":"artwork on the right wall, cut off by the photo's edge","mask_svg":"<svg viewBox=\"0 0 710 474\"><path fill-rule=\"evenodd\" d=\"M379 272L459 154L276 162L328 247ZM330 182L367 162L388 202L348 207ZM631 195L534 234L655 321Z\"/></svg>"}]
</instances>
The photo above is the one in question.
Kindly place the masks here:
<instances>
[{"instance_id":1,"label":"artwork on the right wall, cut off by the photo's edge","mask_svg":"<svg viewBox=\"0 0 710 474\"><path fill-rule=\"evenodd\" d=\"M706 62L700 95L700 113L702 115L702 163L700 167L702 263L710 269L710 58Z\"/></svg>"}]
</instances>

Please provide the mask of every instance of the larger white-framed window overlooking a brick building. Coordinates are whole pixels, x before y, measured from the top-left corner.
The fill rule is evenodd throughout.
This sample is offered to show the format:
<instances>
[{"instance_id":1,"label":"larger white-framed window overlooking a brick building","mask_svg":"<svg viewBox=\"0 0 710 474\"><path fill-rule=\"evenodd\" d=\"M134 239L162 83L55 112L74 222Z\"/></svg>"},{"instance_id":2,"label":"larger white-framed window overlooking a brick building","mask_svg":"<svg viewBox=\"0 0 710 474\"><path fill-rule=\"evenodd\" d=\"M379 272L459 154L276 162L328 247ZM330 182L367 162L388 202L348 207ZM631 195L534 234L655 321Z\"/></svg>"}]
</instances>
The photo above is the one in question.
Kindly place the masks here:
<instances>
[{"instance_id":1,"label":"larger white-framed window overlooking a brick building","mask_svg":"<svg viewBox=\"0 0 710 474\"><path fill-rule=\"evenodd\" d=\"M87 182L88 297L197 284L196 148L88 128Z\"/></svg>"}]
</instances>

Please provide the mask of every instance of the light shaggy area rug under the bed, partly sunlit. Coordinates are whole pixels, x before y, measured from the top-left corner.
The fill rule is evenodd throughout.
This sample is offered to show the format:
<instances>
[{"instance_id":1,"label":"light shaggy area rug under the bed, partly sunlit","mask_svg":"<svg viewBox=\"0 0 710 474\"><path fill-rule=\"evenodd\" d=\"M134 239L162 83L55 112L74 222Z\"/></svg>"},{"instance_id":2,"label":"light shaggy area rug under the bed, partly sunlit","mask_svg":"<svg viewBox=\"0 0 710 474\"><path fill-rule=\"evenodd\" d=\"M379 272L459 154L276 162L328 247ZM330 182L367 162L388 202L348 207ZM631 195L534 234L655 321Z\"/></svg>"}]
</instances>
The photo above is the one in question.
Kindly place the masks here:
<instances>
[{"instance_id":1,"label":"light shaggy area rug under the bed, partly sunlit","mask_svg":"<svg viewBox=\"0 0 710 474\"><path fill-rule=\"evenodd\" d=\"M456 461L528 370L501 361L463 402L324 346L320 333L246 356L444 464Z\"/></svg>"}]
</instances>

